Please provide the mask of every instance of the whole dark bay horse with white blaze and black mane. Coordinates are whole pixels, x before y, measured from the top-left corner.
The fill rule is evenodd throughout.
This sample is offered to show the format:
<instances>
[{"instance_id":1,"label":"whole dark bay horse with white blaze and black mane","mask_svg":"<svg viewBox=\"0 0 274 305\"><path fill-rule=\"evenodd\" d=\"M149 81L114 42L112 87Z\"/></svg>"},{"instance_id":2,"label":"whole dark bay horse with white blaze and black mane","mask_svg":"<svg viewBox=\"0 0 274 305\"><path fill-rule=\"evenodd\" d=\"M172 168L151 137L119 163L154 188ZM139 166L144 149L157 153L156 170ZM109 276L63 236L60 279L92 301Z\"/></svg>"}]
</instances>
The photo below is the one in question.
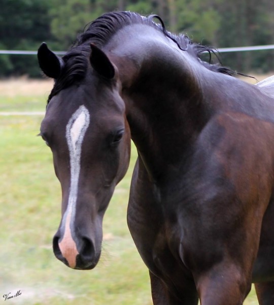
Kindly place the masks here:
<instances>
[{"instance_id":1,"label":"whole dark bay horse with white blaze and black mane","mask_svg":"<svg viewBox=\"0 0 274 305\"><path fill-rule=\"evenodd\" d=\"M108 13L62 58L39 48L55 79L41 125L62 188L54 253L96 265L131 138L127 221L154 304L239 305L252 282L260 304L274 304L273 82L203 62L210 48L154 17Z\"/></svg>"}]
</instances>

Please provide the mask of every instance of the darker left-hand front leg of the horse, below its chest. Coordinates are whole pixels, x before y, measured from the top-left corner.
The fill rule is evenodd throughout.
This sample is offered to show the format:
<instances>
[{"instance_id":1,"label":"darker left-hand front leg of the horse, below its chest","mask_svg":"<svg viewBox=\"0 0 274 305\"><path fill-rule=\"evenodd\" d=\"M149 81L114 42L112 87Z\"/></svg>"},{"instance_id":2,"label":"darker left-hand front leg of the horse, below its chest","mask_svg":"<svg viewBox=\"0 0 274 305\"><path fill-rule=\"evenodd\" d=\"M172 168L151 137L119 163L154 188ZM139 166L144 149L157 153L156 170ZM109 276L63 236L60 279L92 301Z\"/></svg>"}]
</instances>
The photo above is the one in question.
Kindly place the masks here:
<instances>
[{"instance_id":1,"label":"darker left-hand front leg of the horse, below its chest","mask_svg":"<svg viewBox=\"0 0 274 305\"><path fill-rule=\"evenodd\" d=\"M185 289L183 296L178 298L172 294L161 279L149 271L151 283L151 295L154 305L197 305L198 294L193 283L192 289ZM189 287L188 287L189 288Z\"/></svg>"}]
</instances>

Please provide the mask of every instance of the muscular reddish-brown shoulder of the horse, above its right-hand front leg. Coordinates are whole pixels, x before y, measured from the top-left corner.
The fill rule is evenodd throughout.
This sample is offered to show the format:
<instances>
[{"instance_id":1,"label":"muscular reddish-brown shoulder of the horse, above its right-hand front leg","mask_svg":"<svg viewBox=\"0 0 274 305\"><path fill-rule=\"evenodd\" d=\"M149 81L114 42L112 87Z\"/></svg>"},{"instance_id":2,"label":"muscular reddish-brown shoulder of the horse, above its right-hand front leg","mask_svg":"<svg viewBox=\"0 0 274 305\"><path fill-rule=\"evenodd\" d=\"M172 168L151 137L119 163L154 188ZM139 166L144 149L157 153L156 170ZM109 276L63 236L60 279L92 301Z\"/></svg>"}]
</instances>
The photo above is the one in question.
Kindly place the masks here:
<instances>
[{"instance_id":1,"label":"muscular reddish-brown shoulder of the horse, above its right-hand front leg","mask_svg":"<svg viewBox=\"0 0 274 305\"><path fill-rule=\"evenodd\" d=\"M165 214L170 252L179 253L194 273L227 260L251 268L272 189L274 150L265 138L260 141L262 131L272 133L268 124L241 113L219 113L194 144ZM249 258L240 262L247 249Z\"/></svg>"}]
</instances>

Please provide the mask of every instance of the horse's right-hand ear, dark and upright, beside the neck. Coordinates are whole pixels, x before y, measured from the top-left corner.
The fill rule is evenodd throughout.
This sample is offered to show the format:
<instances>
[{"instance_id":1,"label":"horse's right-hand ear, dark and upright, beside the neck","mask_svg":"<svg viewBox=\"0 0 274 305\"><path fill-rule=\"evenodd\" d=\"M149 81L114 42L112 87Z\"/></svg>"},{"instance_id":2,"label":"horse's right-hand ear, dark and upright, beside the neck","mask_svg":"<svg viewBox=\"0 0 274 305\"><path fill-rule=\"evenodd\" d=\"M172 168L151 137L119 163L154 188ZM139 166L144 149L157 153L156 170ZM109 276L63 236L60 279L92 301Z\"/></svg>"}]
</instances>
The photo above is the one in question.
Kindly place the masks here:
<instances>
[{"instance_id":1,"label":"horse's right-hand ear, dark and upright, beside the neck","mask_svg":"<svg viewBox=\"0 0 274 305\"><path fill-rule=\"evenodd\" d=\"M101 76L112 79L115 76L115 68L109 57L94 44L90 44L90 64L91 67Z\"/></svg>"}]
</instances>

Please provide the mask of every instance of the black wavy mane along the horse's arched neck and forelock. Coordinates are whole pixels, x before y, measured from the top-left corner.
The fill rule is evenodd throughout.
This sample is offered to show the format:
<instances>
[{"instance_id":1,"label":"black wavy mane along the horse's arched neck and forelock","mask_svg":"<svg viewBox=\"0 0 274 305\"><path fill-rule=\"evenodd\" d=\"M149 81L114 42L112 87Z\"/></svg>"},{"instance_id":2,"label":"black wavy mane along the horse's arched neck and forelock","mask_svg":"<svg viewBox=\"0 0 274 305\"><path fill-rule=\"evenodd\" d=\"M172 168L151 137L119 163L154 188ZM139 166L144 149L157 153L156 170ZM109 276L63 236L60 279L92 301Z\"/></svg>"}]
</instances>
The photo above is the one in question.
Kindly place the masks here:
<instances>
[{"instance_id":1,"label":"black wavy mane along the horse's arched neck and forelock","mask_svg":"<svg viewBox=\"0 0 274 305\"><path fill-rule=\"evenodd\" d=\"M157 18L160 21L160 24L154 22L154 18ZM219 64L211 64L201 60L201 53L208 52L211 59L212 54L216 55L216 49L193 43L192 40L186 35L175 35L166 31L164 23L159 16L150 15L148 17L144 17L133 12L111 12L101 15L94 21L87 24L84 32L78 36L73 46L64 56L62 56L65 65L60 76L55 80L55 84L49 95L48 102L53 96L58 94L60 90L77 82L79 83L85 77L88 67L87 58L90 54L90 43L94 43L98 47L103 47L108 43L112 36L119 31L119 29L126 25L136 23L147 24L154 27L157 31L163 32L164 35L173 40L182 51L186 51L193 57L197 58L200 64L205 68L228 75L235 74L234 71L226 67L222 67Z\"/></svg>"}]
</instances>

